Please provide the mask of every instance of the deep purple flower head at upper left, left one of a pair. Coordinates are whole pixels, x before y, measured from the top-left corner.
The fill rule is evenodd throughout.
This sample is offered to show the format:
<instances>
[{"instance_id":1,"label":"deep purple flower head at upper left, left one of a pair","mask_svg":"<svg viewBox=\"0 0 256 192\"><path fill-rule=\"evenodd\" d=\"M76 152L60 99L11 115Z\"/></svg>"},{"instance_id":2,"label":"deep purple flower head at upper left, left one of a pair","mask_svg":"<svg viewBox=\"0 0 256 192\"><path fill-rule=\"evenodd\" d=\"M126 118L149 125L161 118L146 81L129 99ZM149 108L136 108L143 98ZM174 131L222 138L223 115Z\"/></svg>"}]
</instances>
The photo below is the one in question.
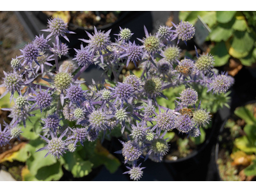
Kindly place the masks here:
<instances>
[{"instance_id":1,"label":"deep purple flower head at upper left, left one of a pair","mask_svg":"<svg viewBox=\"0 0 256 192\"><path fill-rule=\"evenodd\" d=\"M36 47L35 44L29 43L25 45L24 49L20 49L20 51L22 52L22 55L18 58L24 58L24 62L26 62L26 65L28 63L31 64L33 61L35 61L35 63L39 65L37 61L38 56L40 56L39 49L38 47Z\"/></svg>"}]
</instances>

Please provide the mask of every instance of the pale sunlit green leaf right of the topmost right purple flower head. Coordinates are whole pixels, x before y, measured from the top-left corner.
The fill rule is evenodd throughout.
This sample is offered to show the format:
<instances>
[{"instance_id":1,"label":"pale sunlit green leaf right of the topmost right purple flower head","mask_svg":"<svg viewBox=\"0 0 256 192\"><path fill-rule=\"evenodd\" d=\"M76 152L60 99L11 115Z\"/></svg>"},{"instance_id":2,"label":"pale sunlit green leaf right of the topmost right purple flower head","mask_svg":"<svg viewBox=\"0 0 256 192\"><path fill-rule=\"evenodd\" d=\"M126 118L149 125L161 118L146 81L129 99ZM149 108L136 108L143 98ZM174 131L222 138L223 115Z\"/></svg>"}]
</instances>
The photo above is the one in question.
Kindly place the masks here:
<instances>
[{"instance_id":1,"label":"pale sunlit green leaf right of the topmost right purple flower head","mask_svg":"<svg viewBox=\"0 0 256 192\"><path fill-rule=\"evenodd\" d=\"M214 28L212 28L212 32L209 35L210 39L214 42L220 42L221 40L227 41L233 33L232 26L235 20L236 19L232 19L227 24L219 23L217 26L214 26Z\"/></svg>"}]
</instances>

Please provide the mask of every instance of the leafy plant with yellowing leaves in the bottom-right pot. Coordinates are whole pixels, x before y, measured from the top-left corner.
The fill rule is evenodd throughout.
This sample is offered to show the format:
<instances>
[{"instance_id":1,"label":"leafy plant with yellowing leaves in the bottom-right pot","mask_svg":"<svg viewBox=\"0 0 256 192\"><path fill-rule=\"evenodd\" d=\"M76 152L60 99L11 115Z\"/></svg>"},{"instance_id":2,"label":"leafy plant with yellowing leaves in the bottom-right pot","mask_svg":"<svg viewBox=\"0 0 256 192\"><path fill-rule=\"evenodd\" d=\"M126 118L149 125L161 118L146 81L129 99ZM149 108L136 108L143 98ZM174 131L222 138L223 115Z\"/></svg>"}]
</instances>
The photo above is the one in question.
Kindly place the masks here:
<instances>
[{"instance_id":1,"label":"leafy plant with yellowing leaves in the bottom-right pot","mask_svg":"<svg viewBox=\"0 0 256 192\"><path fill-rule=\"evenodd\" d=\"M222 180L255 180L255 104L234 111L220 136L217 161Z\"/></svg>"}]
</instances>

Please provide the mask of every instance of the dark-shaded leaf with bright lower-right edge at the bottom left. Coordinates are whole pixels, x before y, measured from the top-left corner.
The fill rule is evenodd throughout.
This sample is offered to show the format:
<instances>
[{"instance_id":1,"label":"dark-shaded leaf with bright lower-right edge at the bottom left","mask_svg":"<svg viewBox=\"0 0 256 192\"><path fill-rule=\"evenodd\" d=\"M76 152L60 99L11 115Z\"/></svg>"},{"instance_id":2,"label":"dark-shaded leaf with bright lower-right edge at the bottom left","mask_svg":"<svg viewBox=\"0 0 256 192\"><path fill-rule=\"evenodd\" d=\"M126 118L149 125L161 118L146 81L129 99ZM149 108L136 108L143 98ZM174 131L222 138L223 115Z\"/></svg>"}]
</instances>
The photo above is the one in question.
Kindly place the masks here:
<instances>
[{"instance_id":1,"label":"dark-shaded leaf with bright lower-right edge at the bottom left","mask_svg":"<svg viewBox=\"0 0 256 192\"><path fill-rule=\"evenodd\" d=\"M61 168L61 163L57 161L50 166L44 166L40 168L35 177L38 180L59 180L63 175L63 171Z\"/></svg>"}]
</instances>

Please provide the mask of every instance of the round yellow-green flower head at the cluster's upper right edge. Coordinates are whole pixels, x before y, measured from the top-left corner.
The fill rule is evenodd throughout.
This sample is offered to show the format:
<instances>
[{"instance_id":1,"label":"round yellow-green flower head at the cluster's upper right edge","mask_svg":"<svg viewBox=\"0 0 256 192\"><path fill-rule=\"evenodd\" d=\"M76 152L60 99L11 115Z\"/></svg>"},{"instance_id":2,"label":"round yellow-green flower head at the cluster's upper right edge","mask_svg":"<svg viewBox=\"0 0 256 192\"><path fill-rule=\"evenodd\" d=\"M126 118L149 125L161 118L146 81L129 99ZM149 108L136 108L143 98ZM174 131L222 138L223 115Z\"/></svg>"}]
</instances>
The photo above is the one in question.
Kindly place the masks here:
<instances>
[{"instance_id":1,"label":"round yellow-green flower head at the cluster's upper right edge","mask_svg":"<svg viewBox=\"0 0 256 192\"><path fill-rule=\"evenodd\" d=\"M211 54L202 54L196 60L195 67L203 72L209 72L214 65L214 58Z\"/></svg>"}]
</instances>

